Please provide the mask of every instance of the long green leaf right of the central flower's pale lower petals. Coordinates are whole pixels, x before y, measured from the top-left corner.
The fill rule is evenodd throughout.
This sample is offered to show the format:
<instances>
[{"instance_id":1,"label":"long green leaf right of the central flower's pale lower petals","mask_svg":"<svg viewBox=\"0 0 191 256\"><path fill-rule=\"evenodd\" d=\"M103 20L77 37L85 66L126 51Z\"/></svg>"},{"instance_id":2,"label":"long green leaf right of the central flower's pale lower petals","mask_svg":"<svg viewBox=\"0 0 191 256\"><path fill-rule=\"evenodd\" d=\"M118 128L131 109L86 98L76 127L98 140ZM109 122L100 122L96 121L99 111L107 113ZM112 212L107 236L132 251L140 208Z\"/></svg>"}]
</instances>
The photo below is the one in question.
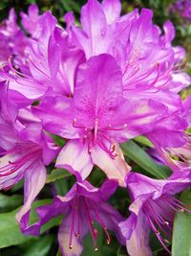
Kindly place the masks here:
<instances>
[{"instance_id":1,"label":"long green leaf right of the central flower's pale lower petals","mask_svg":"<svg viewBox=\"0 0 191 256\"><path fill-rule=\"evenodd\" d=\"M151 156L138 147L134 141L122 143L121 149L126 156L136 162L148 174L157 178L166 178L170 175L170 170L167 167L156 164Z\"/></svg>"}]
</instances>

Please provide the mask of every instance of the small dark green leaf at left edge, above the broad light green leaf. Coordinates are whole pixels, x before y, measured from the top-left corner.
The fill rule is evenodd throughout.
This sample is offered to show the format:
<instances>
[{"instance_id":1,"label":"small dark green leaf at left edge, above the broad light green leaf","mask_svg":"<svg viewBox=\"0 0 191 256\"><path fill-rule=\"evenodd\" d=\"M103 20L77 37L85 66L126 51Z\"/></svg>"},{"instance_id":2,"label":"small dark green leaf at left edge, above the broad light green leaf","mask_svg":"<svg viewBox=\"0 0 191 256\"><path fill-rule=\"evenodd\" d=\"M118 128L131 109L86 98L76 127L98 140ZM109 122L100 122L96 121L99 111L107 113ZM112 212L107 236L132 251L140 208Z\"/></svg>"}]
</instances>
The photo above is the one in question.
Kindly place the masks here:
<instances>
[{"instance_id":1,"label":"small dark green leaf at left edge, above the broad light green leaf","mask_svg":"<svg viewBox=\"0 0 191 256\"><path fill-rule=\"evenodd\" d=\"M0 194L0 213L11 211L21 205L22 202L23 196L21 195L6 196Z\"/></svg>"}]
</instances>

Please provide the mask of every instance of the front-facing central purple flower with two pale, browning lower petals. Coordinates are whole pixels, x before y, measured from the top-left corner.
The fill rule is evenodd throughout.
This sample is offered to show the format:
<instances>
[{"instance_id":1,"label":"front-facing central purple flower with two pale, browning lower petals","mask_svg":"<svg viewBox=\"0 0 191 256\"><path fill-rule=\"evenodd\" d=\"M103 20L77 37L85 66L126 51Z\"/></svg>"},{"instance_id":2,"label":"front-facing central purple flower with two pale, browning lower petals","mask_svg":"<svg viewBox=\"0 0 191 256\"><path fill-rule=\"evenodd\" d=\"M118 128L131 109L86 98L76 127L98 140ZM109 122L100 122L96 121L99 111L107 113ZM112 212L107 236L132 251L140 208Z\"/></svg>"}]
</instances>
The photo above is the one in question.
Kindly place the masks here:
<instances>
[{"instance_id":1,"label":"front-facing central purple flower with two pale, browning lower petals","mask_svg":"<svg viewBox=\"0 0 191 256\"><path fill-rule=\"evenodd\" d=\"M96 164L123 186L130 167L118 143L152 129L166 108L152 100L124 99L115 58L100 55L78 68L74 98L47 97L33 110L45 129L70 139L56 167L85 179Z\"/></svg>"}]
</instances>

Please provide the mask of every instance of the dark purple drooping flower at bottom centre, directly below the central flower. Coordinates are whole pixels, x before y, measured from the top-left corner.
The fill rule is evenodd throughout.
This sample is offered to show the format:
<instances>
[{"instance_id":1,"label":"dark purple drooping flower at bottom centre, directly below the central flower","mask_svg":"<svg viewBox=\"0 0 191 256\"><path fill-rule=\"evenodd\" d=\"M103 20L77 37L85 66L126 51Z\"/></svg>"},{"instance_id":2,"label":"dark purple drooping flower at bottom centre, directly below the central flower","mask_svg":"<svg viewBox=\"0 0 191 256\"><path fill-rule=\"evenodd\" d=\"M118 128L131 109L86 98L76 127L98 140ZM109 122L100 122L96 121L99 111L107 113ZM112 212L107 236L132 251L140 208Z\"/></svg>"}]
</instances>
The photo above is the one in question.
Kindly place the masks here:
<instances>
[{"instance_id":1,"label":"dark purple drooping flower at bottom centre, directly below the central flower","mask_svg":"<svg viewBox=\"0 0 191 256\"><path fill-rule=\"evenodd\" d=\"M107 244L111 237L107 229L113 230L117 239L124 244L124 238L118 228L118 222L123 218L106 200L117 189L117 182L106 180L98 189L88 181L76 183L65 197L57 196L53 203L36 209L39 221L28 226L29 216L21 222L24 234L39 235L40 227L57 215L64 215L59 232L58 242L63 255L78 256L83 250L82 240L90 231L93 246L98 249L96 240L99 235L94 221L102 227Z\"/></svg>"}]
</instances>

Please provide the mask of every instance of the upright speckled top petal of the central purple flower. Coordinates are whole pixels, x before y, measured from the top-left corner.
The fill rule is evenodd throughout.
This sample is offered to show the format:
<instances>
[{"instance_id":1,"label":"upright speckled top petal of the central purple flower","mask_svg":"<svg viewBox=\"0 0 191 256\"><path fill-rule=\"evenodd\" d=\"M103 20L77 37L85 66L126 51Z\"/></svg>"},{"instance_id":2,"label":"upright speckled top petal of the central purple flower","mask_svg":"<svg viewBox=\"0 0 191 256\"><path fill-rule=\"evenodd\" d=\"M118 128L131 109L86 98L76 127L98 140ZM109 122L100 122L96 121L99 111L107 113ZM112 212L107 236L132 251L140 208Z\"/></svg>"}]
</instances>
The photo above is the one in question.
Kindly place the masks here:
<instances>
[{"instance_id":1,"label":"upright speckled top petal of the central purple flower","mask_svg":"<svg viewBox=\"0 0 191 256\"><path fill-rule=\"evenodd\" d=\"M74 89L74 105L96 118L115 109L122 98L121 72L115 58L100 55L80 65Z\"/></svg>"}]
</instances>

